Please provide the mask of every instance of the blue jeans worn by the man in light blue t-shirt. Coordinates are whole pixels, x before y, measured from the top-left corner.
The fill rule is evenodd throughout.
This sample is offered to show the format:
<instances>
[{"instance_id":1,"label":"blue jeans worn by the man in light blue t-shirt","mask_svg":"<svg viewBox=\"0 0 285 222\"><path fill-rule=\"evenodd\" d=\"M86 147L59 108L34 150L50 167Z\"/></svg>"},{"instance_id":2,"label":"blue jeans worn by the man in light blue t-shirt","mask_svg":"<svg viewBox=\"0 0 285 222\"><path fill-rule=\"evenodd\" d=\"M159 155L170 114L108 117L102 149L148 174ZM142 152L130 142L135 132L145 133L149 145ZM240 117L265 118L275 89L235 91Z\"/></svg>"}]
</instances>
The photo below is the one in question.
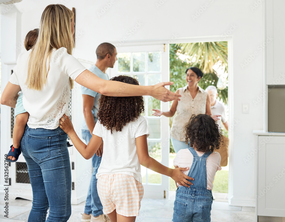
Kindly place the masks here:
<instances>
[{"instance_id":1,"label":"blue jeans worn by the man in light blue t-shirt","mask_svg":"<svg viewBox=\"0 0 285 222\"><path fill-rule=\"evenodd\" d=\"M86 141L86 143L89 143L92 137L89 130L81 130L81 132L82 132L82 138ZM94 154L94 156L92 157L93 172L91 176L91 181L90 181L86 203L85 203L85 209L84 209L84 213L86 214L92 213L94 217L97 217L103 214L103 206L102 206L102 203L100 201L100 198L97 192L97 178L96 178L96 173L100 166L101 159L102 157L98 157L96 156L96 154Z\"/></svg>"}]
</instances>

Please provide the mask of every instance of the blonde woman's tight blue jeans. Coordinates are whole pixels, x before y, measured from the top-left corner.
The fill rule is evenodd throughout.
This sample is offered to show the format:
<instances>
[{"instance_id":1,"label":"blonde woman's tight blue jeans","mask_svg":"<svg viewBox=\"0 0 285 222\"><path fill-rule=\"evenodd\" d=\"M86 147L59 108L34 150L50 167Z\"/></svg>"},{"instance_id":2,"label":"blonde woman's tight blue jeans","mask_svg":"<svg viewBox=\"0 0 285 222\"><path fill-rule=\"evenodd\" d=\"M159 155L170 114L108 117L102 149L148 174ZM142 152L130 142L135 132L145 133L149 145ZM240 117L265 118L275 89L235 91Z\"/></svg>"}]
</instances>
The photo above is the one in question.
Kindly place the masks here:
<instances>
[{"instance_id":1,"label":"blonde woman's tight blue jeans","mask_svg":"<svg viewBox=\"0 0 285 222\"><path fill-rule=\"evenodd\" d=\"M63 222L71 215L71 167L66 141L67 134L59 127L47 130L26 125L21 151L33 192L28 222Z\"/></svg>"}]
</instances>

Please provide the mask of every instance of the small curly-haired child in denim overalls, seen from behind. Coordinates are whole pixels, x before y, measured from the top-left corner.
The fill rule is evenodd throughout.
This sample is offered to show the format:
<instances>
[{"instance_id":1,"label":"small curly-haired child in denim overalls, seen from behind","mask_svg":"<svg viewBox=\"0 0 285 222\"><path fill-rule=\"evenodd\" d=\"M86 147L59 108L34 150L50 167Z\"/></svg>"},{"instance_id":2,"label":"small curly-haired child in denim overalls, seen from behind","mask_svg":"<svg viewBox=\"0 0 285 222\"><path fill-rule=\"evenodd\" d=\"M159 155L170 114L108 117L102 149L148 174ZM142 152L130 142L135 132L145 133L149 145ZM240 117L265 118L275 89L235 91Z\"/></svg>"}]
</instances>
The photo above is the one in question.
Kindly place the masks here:
<instances>
[{"instance_id":1,"label":"small curly-haired child in denim overalls, seen from behind","mask_svg":"<svg viewBox=\"0 0 285 222\"><path fill-rule=\"evenodd\" d=\"M221 170L219 149L221 130L215 120L205 114L193 115L185 128L186 141L190 148L180 150L174 167L191 167L184 173L194 178L190 188L178 186L174 202L173 222L211 221L213 203L213 180L217 170ZM176 185L177 186L177 185Z\"/></svg>"}]
</instances>

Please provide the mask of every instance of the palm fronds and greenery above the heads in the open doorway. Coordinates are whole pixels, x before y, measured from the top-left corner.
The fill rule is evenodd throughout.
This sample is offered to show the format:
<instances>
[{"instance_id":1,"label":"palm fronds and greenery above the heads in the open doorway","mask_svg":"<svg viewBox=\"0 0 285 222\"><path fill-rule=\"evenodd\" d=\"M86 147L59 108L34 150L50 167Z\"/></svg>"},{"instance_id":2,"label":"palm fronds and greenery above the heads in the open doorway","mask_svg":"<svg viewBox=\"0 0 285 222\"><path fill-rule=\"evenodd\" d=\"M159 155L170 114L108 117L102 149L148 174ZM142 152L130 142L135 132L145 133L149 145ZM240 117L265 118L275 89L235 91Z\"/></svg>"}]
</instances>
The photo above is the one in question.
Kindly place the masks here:
<instances>
[{"instance_id":1,"label":"palm fronds and greenery above the heads in the open doorway","mask_svg":"<svg viewBox=\"0 0 285 222\"><path fill-rule=\"evenodd\" d=\"M227 103L227 59L227 42L195 42L170 45L170 81L176 83L172 90L175 91L184 86L185 70L188 67L195 66L204 73L199 83L200 87L203 89L209 85L217 87L219 98ZM213 67L215 68L213 69ZM219 77L221 78L219 79Z\"/></svg>"}]
</instances>

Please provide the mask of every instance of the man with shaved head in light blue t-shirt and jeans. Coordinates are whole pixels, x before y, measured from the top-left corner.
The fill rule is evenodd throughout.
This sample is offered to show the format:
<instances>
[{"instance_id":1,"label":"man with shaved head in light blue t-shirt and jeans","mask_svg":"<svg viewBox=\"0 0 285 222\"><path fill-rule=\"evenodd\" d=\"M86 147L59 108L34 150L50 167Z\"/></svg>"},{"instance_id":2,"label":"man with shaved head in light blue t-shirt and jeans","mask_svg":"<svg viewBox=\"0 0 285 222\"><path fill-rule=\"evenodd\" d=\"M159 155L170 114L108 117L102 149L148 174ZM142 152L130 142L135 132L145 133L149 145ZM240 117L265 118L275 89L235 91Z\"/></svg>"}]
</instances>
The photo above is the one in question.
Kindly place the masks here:
<instances>
[{"instance_id":1,"label":"man with shaved head in light blue t-shirt and jeans","mask_svg":"<svg viewBox=\"0 0 285 222\"><path fill-rule=\"evenodd\" d=\"M107 68L113 68L117 60L117 51L115 46L110 43L104 42L96 49L97 61L89 71L98 77L109 80L108 75L105 73ZM88 143L92 137L92 132L98 120L97 112L99 109L99 99L101 94L92 91L84 86L81 86L81 93L83 98L83 114L81 130L82 138ZM103 153L103 142L99 147L96 154L92 157L93 173L87 194L84 214L82 215L82 222L89 221L110 221L109 218L103 214L103 206L97 193L97 179L96 173L101 163Z\"/></svg>"}]
</instances>

